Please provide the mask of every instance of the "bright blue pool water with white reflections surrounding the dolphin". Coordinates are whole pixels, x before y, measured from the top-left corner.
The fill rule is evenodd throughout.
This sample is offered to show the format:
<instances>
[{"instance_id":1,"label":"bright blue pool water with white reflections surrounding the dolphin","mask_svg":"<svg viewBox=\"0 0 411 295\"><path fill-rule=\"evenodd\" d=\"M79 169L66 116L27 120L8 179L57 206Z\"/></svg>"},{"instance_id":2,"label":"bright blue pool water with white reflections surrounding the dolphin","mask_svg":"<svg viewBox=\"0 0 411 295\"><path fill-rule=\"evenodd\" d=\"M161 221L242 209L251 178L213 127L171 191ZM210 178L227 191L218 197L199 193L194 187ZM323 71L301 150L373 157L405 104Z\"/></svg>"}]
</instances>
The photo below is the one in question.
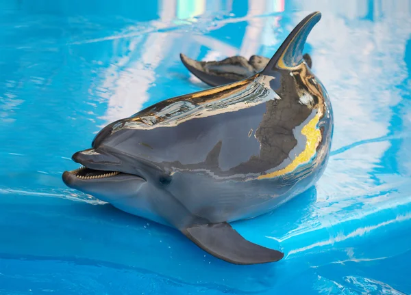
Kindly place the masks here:
<instances>
[{"instance_id":1,"label":"bright blue pool water with white reflections surrounding the dolphin","mask_svg":"<svg viewBox=\"0 0 411 295\"><path fill-rule=\"evenodd\" d=\"M207 87L179 53L271 57L315 10L329 164L232 224L280 262L228 264L64 186L102 126ZM411 294L410 1L2 0L0 28L0 294Z\"/></svg>"}]
</instances>

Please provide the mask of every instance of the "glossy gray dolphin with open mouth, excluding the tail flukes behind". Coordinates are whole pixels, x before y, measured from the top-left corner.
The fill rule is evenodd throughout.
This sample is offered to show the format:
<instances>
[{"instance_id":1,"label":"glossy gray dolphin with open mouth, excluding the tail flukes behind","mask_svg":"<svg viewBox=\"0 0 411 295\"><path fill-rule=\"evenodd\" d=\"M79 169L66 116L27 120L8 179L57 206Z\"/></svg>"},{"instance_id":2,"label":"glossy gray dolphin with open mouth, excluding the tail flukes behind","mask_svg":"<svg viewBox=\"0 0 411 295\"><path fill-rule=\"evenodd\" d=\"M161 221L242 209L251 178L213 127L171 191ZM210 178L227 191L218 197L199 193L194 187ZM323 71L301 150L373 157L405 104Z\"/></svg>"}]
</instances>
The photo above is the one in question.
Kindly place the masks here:
<instances>
[{"instance_id":1,"label":"glossy gray dolphin with open mouth, excluding the tail flukes behind","mask_svg":"<svg viewBox=\"0 0 411 295\"><path fill-rule=\"evenodd\" d=\"M306 191L323 174L332 141L328 94L303 59L321 14L304 18L264 70L163 100L105 126L64 183L130 214L178 229L233 264L284 253L229 225Z\"/></svg>"}]
</instances>

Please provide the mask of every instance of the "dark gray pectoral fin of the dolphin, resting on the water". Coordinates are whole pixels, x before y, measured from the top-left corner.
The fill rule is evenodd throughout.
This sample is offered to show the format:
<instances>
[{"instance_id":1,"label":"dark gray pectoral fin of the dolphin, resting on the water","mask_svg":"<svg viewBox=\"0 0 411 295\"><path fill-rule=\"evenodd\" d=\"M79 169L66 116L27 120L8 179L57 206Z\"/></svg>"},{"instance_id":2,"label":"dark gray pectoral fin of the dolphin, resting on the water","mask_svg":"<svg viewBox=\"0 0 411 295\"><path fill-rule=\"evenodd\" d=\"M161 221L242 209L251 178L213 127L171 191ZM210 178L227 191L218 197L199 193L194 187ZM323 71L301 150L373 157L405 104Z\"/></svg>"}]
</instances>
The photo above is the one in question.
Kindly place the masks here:
<instances>
[{"instance_id":1,"label":"dark gray pectoral fin of the dolphin, resting on the water","mask_svg":"<svg viewBox=\"0 0 411 295\"><path fill-rule=\"evenodd\" d=\"M188 227L182 233L204 251L232 264L263 264L284 257L282 252L245 240L228 223Z\"/></svg>"}]
</instances>

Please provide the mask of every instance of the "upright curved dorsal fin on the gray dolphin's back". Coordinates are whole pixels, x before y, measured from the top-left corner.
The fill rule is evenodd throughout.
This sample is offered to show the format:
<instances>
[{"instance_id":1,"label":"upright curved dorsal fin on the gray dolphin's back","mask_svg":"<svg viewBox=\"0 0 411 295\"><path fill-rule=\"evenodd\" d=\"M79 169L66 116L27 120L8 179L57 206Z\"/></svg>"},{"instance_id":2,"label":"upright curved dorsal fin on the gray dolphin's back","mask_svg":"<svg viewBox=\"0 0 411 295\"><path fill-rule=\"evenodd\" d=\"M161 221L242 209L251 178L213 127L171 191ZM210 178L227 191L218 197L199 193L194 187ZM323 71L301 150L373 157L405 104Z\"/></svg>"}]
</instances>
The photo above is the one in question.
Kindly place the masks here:
<instances>
[{"instance_id":1,"label":"upright curved dorsal fin on the gray dolphin's back","mask_svg":"<svg viewBox=\"0 0 411 295\"><path fill-rule=\"evenodd\" d=\"M320 12L313 12L301 20L286 40L279 46L277 52L270 59L262 74L271 75L276 69L292 68L303 61L303 48L306 44L307 36L321 19Z\"/></svg>"}]
</instances>

